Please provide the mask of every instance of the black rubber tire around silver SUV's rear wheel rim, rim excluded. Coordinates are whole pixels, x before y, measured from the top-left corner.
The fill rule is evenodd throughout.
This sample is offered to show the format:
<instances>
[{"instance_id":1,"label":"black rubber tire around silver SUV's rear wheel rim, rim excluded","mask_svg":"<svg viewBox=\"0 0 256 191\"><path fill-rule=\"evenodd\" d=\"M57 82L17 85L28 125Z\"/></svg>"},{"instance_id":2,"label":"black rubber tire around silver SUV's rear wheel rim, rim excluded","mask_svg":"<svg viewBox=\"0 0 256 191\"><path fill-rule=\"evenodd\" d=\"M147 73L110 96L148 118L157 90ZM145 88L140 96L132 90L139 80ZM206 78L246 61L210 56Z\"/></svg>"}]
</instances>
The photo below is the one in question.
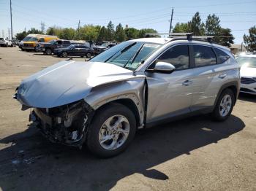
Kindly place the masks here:
<instances>
[{"instance_id":1,"label":"black rubber tire around silver SUV's rear wheel rim, rim excluded","mask_svg":"<svg viewBox=\"0 0 256 191\"><path fill-rule=\"evenodd\" d=\"M230 96L231 104L230 104L229 112L227 114L225 114L225 116L222 116L220 114L220 109L222 108L221 102L222 102L222 99L225 97L225 95ZM214 108L214 112L211 113L212 119L215 120L215 121L219 121L219 122L227 120L227 118L230 117L230 114L233 110L234 104L235 104L235 95L233 93L233 90L230 90L229 88L223 90L222 93L219 95L219 99L218 99L218 101L216 103L216 106Z\"/></svg>"}]
</instances>

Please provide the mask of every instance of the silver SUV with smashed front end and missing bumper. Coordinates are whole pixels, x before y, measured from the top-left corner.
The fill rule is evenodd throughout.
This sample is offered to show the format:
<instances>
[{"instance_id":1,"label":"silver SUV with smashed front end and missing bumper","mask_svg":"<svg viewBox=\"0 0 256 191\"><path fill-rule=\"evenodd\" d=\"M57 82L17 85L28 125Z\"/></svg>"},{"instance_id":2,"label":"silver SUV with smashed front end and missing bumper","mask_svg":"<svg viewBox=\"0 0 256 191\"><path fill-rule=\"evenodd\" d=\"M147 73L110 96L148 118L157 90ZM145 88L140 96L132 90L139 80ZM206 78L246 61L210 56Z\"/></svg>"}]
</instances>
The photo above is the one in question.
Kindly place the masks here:
<instances>
[{"instance_id":1,"label":"silver SUV with smashed front end and missing bumper","mask_svg":"<svg viewBox=\"0 0 256 191\"><path fill-rule=\"evenodd\" d=\"M185 36L132 39L88 62L61 61L24 79L14 98L50 141L111 157L140 128L198 113L226 120L239 88L230 50Z\"/></svg>"}]
</instances>

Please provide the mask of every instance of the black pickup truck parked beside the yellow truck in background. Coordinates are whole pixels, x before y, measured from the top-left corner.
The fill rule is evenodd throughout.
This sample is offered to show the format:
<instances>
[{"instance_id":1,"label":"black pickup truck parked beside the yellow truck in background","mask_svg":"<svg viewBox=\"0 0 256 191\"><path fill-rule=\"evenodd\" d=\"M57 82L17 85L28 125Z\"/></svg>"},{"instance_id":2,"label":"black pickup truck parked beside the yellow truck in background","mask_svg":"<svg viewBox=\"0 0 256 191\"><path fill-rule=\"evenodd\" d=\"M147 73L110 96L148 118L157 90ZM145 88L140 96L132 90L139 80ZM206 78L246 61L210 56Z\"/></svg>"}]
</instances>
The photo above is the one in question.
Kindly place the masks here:
<instances>
[{"instance_id":1,"label":"black pickup truck parked beside the yellow truck in background","mask_svg":"<svg viewBox=\"0 0 256 191\"><path fill-rule=\"evenodd\" d=\"M69 40L51 40L50 42L40 42L37 44L36 51L51 55L56 48L69 47L72 43Z\"/></svg>"}]
</instances>

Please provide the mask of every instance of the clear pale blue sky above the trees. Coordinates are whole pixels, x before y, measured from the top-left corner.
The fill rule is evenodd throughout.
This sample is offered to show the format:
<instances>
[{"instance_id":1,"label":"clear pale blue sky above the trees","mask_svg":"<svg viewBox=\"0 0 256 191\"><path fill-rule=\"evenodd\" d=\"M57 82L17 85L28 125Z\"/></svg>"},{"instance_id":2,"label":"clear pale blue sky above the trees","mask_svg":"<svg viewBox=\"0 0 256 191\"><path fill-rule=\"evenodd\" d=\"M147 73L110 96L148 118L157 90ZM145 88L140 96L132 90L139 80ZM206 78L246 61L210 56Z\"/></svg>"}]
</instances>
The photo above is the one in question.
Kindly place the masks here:
<instances>
[{"instance_id":1,"label":"clear pale blue sky above the trees","mask_svg":"<svg viewBox=\"0 0 256 191\"><path fill-rule=\"evenodd\" d=\"M78 28L94 24L107 26L110 20L118 25L135 28L154 28L167 33L173 11L173 26L187 23L195 12L200 12L202 21L215 14L222 28L230 28L235 43L243 42L243 35L256 26L256 0L12 0L13 36L31 27L40 29L50 26ZM0 36L8 36L10 28L10 0L0 0Z\"/></svg>"}]
</instances>

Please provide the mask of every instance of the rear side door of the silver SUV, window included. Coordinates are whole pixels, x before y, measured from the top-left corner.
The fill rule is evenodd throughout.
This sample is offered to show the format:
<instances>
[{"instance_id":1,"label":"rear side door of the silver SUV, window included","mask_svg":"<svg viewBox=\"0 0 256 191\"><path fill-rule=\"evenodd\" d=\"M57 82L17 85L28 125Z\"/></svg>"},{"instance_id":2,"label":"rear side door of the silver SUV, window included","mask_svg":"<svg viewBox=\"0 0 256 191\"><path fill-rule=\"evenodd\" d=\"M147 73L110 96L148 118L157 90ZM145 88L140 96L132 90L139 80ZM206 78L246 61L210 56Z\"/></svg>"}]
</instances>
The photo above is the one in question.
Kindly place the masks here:
<instances>
[{"instance_id":1,"label":"rear side door of the silver SUV, window included","mask_svg":"<svg viewBox=\"0 0 256 191\"><path fill-rule=\"evenodd\" d=\"M227 79L227 71L210 46L193 44L192 55L195 64L192 81L197 88L192 95L191 109L196 111L214 105L219 89Z\"/></svg>"}]
</instances>

